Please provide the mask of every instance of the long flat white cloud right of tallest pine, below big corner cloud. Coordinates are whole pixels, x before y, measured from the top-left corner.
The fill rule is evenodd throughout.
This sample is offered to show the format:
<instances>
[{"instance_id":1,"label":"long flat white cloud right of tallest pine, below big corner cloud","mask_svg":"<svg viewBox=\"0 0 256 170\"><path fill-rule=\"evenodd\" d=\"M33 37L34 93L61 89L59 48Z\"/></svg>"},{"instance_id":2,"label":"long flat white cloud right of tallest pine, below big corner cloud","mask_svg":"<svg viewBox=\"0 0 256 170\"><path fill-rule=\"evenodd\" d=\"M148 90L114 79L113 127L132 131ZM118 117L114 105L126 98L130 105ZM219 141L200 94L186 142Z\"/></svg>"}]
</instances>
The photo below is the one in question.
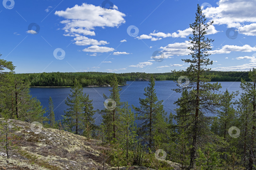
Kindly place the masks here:
<instances>
[{"instance_id":1,"label":"long flat white cloud right of tallest pine, below big corner cloud","mask_svg":"<svg viewBox=\"0 0 256 170\"><path fill-rule=\"evenodd\" d=\"M229 54L231 51L252 52L252 51L256 51L256 47L251 47L250 45L244 45L244 46L224 45L221 49L209 51L209 53L210 54Z\"/></svg>"}]
</instances>

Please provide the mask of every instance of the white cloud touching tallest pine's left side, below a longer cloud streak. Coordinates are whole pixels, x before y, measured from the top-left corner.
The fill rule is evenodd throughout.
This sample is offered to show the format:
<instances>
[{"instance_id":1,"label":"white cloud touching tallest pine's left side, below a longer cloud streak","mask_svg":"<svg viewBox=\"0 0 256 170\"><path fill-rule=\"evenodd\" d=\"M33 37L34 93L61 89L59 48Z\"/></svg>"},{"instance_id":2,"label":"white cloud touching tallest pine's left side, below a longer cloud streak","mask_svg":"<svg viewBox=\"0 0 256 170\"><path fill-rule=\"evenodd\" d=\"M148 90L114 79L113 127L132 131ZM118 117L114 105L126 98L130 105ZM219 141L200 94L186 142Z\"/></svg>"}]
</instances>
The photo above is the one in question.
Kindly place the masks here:
<instances>
[{"instance_id":1,"label":"white cloud touching tallest pine's left side, below a longer cloud streak","mask_svg":"<svg viewBox=\"0 0 256 170\"><path fill-rule=\"evenodd\" d=\"M174 56L174 55L188 55L191 51L187 49L191 47L192 44L189 41L184 43L174 43L168 44L166 47L160 47L165 56Z\"/></svg>"}]
</instances>

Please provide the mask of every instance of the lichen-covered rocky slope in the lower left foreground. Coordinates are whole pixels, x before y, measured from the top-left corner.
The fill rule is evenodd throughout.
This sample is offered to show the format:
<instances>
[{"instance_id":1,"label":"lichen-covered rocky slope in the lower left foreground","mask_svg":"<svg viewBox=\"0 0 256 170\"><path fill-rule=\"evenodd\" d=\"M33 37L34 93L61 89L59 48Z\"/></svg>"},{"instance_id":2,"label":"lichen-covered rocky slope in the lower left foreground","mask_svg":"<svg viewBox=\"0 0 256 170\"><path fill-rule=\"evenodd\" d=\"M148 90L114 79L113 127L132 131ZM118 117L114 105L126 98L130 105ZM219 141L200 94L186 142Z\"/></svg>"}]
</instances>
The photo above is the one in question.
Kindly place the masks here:
<instances>
[{"instance_id":1,"label":"lichen-covered rocky slope in the lower left foreground","mask_svg":"<svg viewBox=\"0 0 256 170\"><path fill-rule=\"evenodd\" d=\"M10 150L6 159L0 150L0 169L101 169L102 148L97 140L59 131L58 129L35 129L30 123L13 120L11 125L19 127L14 134L17 147ZM1 147L0 147L1 148Z\"/></svg>"}]
</instances>

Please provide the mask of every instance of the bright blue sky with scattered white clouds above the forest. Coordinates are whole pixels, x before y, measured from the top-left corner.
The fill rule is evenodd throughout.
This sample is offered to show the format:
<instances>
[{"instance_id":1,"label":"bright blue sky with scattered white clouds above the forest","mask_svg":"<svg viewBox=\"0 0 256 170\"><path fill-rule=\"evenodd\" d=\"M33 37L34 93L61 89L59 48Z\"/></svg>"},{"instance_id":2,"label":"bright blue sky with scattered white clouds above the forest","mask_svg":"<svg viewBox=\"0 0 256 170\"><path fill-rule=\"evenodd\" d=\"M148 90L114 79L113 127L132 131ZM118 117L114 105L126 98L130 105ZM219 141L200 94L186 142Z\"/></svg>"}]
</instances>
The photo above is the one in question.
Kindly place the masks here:
<instances>
[{"instance_id":1,"label":"bright blue sky with scattered white clouds above the forest","mask_svg":"<svg viewBox=\"0 0 256 170\"><path fill-rule=\"evenodd\" d=\"M197 4L214 20L210 68L255 67L253 0L3 0L1 59L12 61L16 73L184 70Z\"/></svg>"}]
</instances>

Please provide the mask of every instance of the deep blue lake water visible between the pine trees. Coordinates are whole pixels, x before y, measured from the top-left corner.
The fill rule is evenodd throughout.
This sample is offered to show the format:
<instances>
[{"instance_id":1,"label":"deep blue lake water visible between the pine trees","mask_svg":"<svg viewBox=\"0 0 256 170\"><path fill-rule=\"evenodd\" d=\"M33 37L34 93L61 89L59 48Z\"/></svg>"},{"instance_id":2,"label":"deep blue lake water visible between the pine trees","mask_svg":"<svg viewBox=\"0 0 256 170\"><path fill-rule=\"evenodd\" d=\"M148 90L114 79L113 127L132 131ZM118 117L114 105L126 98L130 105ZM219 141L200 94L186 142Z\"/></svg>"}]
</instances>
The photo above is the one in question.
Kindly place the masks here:
<instances>
[{"instance_id":1,"label":"deep blue lake water visible between the pine trees","mask_svg":"<svg viewBox=\"0 0 256 170\"><path fill-rule=\"evenodd\" d=\"M229 92L239 90L241 93L240 82L220 82L222 88L221 92L225 91L227 88ZM121 101L128 101L128 104L139 107L139 98L145 98L144 88L148 86L149 82L147 81L127 81L126 86L122 86L120 91ZM181 96L180 93L176 93L172 89L177 88L176 82L173 81L155 81L155 91L159 100L163 100L164 110L168 114L176 108L176 105L173 103ZM70 94L71 88L30 88L30 94L32 97L37 97L40 100L41 105L44 108L48 109L48 99L51 96L54 104L54 114L56 120L63 119L64 110L67 109L65 105L65 99ZM86 87L83 88L83 92L89 94L89 98L93 100L94 110L104 109L104 98L103 93L107 96L110 95L109 89L111 87ZM239 95L240 96L240 95ZM239 98L236 97L236 99ZM100 124L101 116L97 113L94 115L95 123Z\"/></svg>"}]
</instances>

